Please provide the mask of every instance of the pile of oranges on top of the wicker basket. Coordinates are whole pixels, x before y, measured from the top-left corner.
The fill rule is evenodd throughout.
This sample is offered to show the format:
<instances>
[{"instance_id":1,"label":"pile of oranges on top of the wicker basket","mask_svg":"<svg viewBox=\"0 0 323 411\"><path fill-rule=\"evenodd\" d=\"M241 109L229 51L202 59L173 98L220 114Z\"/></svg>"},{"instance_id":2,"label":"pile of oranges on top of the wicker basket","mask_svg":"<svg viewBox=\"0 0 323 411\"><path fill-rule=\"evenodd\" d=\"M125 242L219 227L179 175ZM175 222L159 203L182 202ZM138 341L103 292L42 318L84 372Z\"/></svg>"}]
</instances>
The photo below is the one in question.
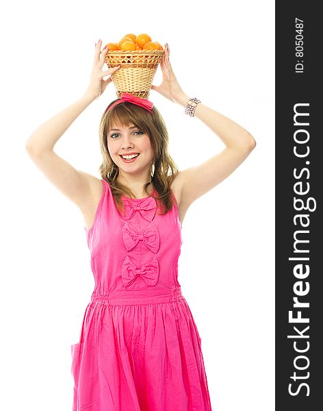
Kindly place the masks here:
<instances>
[{"instance_id":1,"label":"pile of oranges on top of the wicker basket","mask_svg":"<svg viewBox=\"0 0 323 411\"><path fill-rule=\"evenodd\" d=\"M119 42L107 43L103 50L108 47L109 51L125 50L164 50L161 44L157 41L151 41L151 36L146 33L138 34L126 34Z\"/></svg>"}]
</instances>

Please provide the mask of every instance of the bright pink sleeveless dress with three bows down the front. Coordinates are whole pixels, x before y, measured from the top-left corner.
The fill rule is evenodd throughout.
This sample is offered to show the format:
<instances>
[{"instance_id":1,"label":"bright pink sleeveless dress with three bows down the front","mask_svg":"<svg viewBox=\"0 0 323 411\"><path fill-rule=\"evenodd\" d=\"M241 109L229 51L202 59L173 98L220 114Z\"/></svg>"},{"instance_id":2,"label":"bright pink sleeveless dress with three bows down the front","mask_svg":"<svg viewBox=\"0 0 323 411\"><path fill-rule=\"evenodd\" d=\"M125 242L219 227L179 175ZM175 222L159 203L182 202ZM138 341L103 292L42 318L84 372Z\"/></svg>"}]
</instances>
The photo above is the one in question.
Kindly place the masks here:
<instances>
[{"instance_id":1,"label":"bright pink sleeveless dress with three bows down the front","mask_svg":"<svg viewBox=\"0 0 323 411\"><path fill-rule=\"evenodd\" d=\"M201 338L177 279L175 196L167 214L153 197L122 196L122 214L101 182L84 227L95 286L70 346L73 411L209 411Z\"/></svg>"}]
</instances>

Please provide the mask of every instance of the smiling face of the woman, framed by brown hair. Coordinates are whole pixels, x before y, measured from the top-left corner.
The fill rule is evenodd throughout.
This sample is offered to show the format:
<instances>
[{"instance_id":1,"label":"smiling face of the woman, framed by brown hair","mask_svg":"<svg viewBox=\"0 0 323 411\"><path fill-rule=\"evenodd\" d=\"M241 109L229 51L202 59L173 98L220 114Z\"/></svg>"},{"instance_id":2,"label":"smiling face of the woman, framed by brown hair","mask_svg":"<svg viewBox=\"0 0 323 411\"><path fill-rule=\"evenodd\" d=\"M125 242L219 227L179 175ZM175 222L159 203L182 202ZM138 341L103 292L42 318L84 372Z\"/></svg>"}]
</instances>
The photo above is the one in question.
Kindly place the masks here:
<instances>
[{"instance_id":1,"label":"smiling face of the woman, framed by brown hair","mask_svg":"<svg viewBox=\"0 0 323 411\"><path fill-rule=\"evenodd\" d=\"M107 149L119 171L149 175L154 156L153 147L148 134L144 134L135 125L113 125L107 132ZM122 155L130 155L130 158L122 158Z\"/></svg>"}]
</instances>

